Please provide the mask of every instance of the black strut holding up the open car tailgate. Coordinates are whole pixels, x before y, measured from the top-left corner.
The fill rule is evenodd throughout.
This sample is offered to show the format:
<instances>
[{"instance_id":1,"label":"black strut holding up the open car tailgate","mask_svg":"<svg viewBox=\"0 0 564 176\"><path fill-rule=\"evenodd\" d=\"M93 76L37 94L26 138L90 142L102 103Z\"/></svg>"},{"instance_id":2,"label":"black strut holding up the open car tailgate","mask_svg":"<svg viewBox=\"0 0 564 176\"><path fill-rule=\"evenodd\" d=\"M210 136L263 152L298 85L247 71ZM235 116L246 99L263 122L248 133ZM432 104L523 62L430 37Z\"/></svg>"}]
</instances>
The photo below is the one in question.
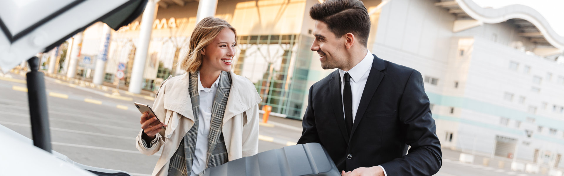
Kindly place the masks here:
<instances>
[{"instance_id":1,"label":"black strut holding up the open car tailgate","mask_svg":"<svg viewBox=\"0 0 564 176\"><path fill-rule=\"evenodd\" d=\"M29 59L28 64L30 72L26 76L33 145L51 152L51 133L49 130L49 114L47 113L45 78L43 73L38 71L39 58L37 56Z\"/></svg>"}]
</instances>

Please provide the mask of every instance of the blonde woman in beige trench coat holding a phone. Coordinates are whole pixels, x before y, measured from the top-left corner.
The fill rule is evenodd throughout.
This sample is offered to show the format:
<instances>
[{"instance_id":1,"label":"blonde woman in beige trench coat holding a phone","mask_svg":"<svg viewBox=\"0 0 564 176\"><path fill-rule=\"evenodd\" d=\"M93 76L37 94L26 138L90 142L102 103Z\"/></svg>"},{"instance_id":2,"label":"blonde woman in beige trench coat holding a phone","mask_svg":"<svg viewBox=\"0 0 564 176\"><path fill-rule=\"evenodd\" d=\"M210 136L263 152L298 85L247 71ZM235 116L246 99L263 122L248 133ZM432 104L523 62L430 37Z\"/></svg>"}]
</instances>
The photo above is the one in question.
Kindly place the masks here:
<instances>
[{"instance_id":1,"label":"blonde woman in beige trench coat holding a phone","mask_svg":"<svg viewBox=\"0 0 564 176\"><path fill-rule=\"evenodd\" d=\"M141 116L137 149L162 151L152 175L197 175L258 153L261 98L252 82L231 72L236 45L227 21L206 17L196 25L180 65L187 73L164 81L153 104L163 121Z\"/></svg>"}]
</instances>

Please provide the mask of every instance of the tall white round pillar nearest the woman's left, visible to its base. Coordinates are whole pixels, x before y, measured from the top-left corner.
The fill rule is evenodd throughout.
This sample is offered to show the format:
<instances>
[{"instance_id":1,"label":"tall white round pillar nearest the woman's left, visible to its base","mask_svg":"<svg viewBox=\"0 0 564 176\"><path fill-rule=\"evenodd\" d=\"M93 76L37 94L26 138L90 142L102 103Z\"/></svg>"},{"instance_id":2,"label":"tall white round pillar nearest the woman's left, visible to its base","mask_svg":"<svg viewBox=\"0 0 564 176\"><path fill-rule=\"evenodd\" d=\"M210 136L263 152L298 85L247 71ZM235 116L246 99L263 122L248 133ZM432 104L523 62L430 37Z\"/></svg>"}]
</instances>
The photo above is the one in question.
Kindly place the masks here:
<instances>
[{"instance_id":1,"label":"tall white round pillar nearest the woman's left, visible to its base","mask_svg":"<svg viewBox=\"0 0 564 176\"><path fill-rule=\"evenodd\" d=\"M158 1L158 0L157 0ZM139 31L139 46L135 49L135 60L133 68L131 68L131 78L129 80L129 91L131 93L141 93L143 84L143 72L145 71L145 60L147 59L147 51L149 42L151 41L151 32L153 30L153 21L156 15L156 1L149 0L141 19L141 29Z\"/></svg>"}]
</instances>

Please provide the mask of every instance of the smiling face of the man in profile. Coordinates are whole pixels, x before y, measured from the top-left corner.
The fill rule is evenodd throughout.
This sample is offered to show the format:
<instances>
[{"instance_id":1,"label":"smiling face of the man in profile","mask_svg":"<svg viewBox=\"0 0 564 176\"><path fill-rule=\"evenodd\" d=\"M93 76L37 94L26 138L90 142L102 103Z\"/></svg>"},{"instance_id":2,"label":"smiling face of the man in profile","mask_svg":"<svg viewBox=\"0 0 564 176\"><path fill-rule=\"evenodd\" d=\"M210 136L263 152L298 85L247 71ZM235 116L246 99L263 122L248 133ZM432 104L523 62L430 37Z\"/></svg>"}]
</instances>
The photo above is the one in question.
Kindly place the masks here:
<instances>
[{"instance_id":1,"label":"smiling face of the man in profile","mask_svg":"<svg viewBox=\"0 0 564 176\"><path fill-rule=\"evenodd\" d=\"M313 34L315 40L314 43L311 44L311 51L318 52L321 68L343 68L348 64L345 54L343 53L345 51L346 37L337 38L337 36L329 30L327 24L321 21L315 21Z\"/></svg>"}]
</instances>

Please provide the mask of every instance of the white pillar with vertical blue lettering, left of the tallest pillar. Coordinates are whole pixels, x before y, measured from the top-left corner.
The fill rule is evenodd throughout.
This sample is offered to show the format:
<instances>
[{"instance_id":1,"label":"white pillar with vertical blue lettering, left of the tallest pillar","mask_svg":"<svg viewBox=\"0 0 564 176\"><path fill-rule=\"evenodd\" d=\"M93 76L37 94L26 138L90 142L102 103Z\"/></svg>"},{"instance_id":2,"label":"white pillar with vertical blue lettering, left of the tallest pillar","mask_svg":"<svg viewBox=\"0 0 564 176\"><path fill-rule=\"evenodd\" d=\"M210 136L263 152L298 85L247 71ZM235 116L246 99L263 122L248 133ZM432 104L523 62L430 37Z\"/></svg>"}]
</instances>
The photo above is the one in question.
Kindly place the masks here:
<instances>
[{"instance_id":1,"label":"white pillar with vertical blue lettering, left of the tallest pillar","mask_svg":"<svg viewBox=\"0 0 564 176\"><path fill-rule=\"evenodd\" d=\"M100 42L100 52L98 53L98 59L96 59L96 68L94 69L94 78L92 78L92 83L96 85L102 85L104 83L105 76L105 63L108 60L108 47L109 38L112 36L112 28L108 25L104 25L102 29L102 42Z\"/></svg>"}]
</instances>

